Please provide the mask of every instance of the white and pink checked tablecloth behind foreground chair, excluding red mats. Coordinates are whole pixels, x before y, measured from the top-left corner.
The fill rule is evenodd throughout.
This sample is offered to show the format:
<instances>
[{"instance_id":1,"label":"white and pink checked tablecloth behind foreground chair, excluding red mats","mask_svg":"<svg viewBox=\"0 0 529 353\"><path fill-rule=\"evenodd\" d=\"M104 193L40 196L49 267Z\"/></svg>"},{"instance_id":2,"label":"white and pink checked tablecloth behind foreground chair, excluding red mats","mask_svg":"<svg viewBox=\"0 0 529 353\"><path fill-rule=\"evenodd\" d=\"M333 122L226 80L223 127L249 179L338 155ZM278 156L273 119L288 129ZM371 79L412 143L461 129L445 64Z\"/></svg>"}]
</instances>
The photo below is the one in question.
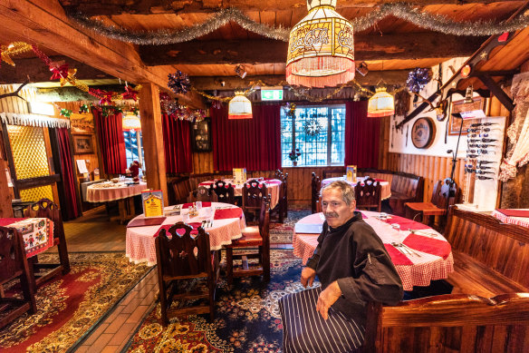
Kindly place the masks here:
<instances>
[{"instance_id":1,"label":"white and pink checked tablecloth behind foreground chair, excluding red mats","mask_svg":"<svg viewBox=\"0 0 529 353\"><path fill-rule=\"evenodd\" d=\"M215 209L217 208L239 209L241 211L240 218L215 219L213 220L213 226L205 228L205 230L209 233L209 244L211 250L220 250L223 245L231 244L232 240L242 237L242 230L244 230L246 227L245 216L239 207L230 205L229 203L211 202L211 207L213 208L213 211L211 212L210 217L207 217L207 207L203 207L198 211L198 215L196 217L189 219L188 223L199 223L208 219L213 220L215 216ZM164 211L166 213L174 211L174 206L168 206L164 209ZM141 218L145 218L143 214L140 214L132 221ZM135 263L147 262L149 266L156 265L156 249L154 246L154 240L156 239L155 235L158 234L160 226L175 224L178 221L182 221L181 215L168 216L161 225L127 228L127 258L129 258L130 261L134 261Z\"/></svg>"}]
</instances>

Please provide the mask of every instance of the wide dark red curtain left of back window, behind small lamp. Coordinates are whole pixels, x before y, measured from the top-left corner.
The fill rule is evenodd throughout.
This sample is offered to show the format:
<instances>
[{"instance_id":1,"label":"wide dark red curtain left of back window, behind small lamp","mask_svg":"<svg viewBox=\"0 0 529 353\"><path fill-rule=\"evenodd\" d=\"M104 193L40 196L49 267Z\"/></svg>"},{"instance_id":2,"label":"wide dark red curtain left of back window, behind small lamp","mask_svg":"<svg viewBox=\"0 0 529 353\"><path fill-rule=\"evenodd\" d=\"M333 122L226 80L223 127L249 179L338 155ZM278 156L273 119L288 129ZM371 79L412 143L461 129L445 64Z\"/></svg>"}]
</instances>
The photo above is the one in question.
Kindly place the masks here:
<instances>
[{"instance_id":1,"label":"wide dark red curtain left of back window, behind small lamp","mask_svg":"<svg viewBox=\"0 0 529 353\"><path fill-rule=\"evenodd\" d=\"M228 120L227 105L211 107L216 171L274 171L281 168L281 104L253 104L253 118Z\"/></svg>"}]
</instances>

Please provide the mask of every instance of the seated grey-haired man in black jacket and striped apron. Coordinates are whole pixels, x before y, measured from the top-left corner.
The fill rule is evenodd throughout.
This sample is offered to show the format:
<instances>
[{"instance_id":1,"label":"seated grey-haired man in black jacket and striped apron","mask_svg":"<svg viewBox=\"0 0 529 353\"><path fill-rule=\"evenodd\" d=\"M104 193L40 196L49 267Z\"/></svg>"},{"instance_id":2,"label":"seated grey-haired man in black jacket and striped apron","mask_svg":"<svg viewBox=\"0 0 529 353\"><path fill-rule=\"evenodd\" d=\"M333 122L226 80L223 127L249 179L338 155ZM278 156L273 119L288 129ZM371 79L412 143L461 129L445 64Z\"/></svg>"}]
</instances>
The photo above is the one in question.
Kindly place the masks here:
<instances>
[{"instance_id":1,"label":"seated grey-haired man in black jacket and striped apron","mask_svg":"<svg viewBox=\"0 0 529 353\"><path fill-rule=\"evenodd\" d=\"M390 255L356 209L345 181L322 188L323 230L302 270L304 288L316 275L321 288L280 299L284 353L350 352L364 341L367 303L395 305L402 283Z\"/></svg>"}]
</instances>

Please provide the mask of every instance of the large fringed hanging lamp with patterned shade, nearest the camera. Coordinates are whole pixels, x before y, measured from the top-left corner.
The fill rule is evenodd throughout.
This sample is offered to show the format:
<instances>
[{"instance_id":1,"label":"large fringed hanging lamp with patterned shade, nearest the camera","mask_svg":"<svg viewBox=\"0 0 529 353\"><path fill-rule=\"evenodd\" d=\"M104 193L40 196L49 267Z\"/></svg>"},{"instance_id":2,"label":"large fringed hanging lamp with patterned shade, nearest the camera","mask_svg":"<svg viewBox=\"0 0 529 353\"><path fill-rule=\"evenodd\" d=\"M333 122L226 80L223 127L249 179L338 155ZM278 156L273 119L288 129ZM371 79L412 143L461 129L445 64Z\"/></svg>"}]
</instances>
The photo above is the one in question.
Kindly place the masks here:
<instances>
[{"instance_id":1,"label":"large fringed hanging lamp with patterned shade, nearest the camera","mask_svg":"<svg viewBox=\"0 0 529 353\"><path fill-rule=\"evenodd\" d=\"M335 8L336 0L307 0L309 14L290 31L287 83L324 87L354 78L352 25Z\"/></svg>"}]
</instances>

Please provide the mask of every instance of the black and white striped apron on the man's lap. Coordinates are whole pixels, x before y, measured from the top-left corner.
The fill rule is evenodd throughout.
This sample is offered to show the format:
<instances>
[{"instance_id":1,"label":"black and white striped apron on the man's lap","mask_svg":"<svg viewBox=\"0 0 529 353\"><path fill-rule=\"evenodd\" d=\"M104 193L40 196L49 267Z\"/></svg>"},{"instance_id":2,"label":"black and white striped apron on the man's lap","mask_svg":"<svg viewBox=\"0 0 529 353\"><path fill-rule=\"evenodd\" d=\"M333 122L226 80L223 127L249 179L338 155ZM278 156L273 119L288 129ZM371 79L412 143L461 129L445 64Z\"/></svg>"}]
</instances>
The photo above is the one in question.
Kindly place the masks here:
<instances>
[{"instance_id":1,"label":"black and white striped apron on the man's lap","mask_svg":"<svg viewBox=\"0 0 529 353\"><path fill-rule=\"evenodd\" d=\"M330 308L324 320L316 311L322 288L307 289L279 299L283 319L283 352L352 352L364 341L365 328Z\"/></svg>"}]
</instances>

